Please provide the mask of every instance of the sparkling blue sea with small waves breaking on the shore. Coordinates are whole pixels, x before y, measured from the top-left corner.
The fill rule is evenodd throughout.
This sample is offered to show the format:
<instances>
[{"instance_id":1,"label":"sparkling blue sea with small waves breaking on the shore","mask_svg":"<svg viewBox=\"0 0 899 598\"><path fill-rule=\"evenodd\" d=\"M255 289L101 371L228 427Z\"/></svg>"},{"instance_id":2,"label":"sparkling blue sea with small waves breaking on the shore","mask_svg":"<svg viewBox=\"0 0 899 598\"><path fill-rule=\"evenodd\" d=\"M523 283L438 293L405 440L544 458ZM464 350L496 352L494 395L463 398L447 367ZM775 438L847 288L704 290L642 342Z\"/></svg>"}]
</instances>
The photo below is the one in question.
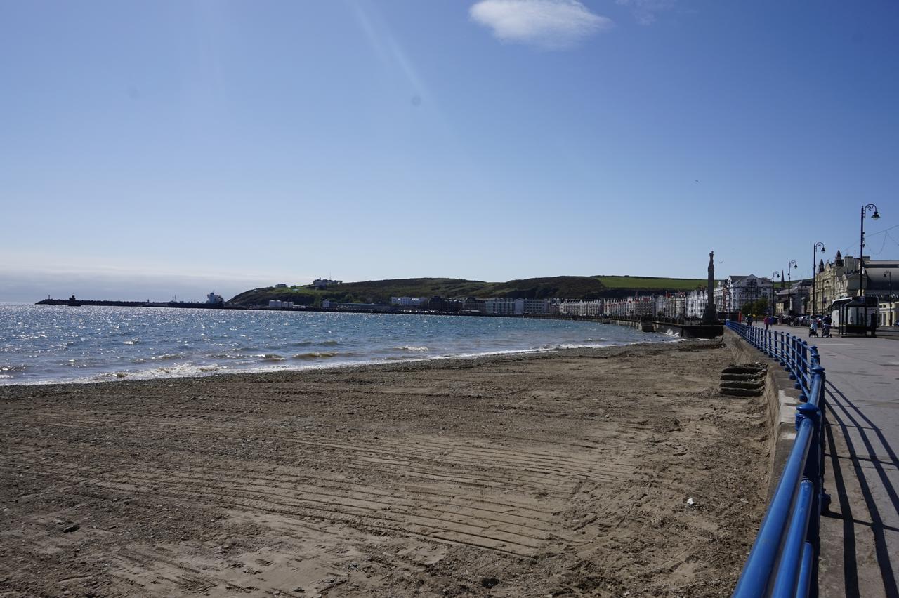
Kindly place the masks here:
<instances>
[{"instance_id":1,"label":"sparkling blue sea with small waves breaking on the shore","mask_svg":"<svg viewBox=\"0 0 899 598\"><path fill-rule=\"evenodd\" d=\"M0 303L0 385L272 372L677 340L597 321Z\"/></svg>"}]
</instances>

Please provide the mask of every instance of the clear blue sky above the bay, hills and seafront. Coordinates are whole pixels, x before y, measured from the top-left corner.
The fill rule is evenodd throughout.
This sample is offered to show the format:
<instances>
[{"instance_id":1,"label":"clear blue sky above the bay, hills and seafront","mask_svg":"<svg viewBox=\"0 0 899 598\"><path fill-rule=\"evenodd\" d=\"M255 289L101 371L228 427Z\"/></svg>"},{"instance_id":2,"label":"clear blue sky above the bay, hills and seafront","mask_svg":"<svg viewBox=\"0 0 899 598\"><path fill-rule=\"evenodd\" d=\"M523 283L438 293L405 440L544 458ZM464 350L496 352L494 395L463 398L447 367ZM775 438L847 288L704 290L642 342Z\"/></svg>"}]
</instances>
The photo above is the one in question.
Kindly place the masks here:
<instances>
[{"instance_id":1,"label":"clear blue sky above the bay, hills and seafront","mask_svg":"<svg viewBox=\"0 0 899 598\"><path fill-rule=\"evenodd\" d=\"M899 4L0 2L0 300L899 257ZM892 236L891 234L892 233Z\"/></svg>"}]
</instances>

